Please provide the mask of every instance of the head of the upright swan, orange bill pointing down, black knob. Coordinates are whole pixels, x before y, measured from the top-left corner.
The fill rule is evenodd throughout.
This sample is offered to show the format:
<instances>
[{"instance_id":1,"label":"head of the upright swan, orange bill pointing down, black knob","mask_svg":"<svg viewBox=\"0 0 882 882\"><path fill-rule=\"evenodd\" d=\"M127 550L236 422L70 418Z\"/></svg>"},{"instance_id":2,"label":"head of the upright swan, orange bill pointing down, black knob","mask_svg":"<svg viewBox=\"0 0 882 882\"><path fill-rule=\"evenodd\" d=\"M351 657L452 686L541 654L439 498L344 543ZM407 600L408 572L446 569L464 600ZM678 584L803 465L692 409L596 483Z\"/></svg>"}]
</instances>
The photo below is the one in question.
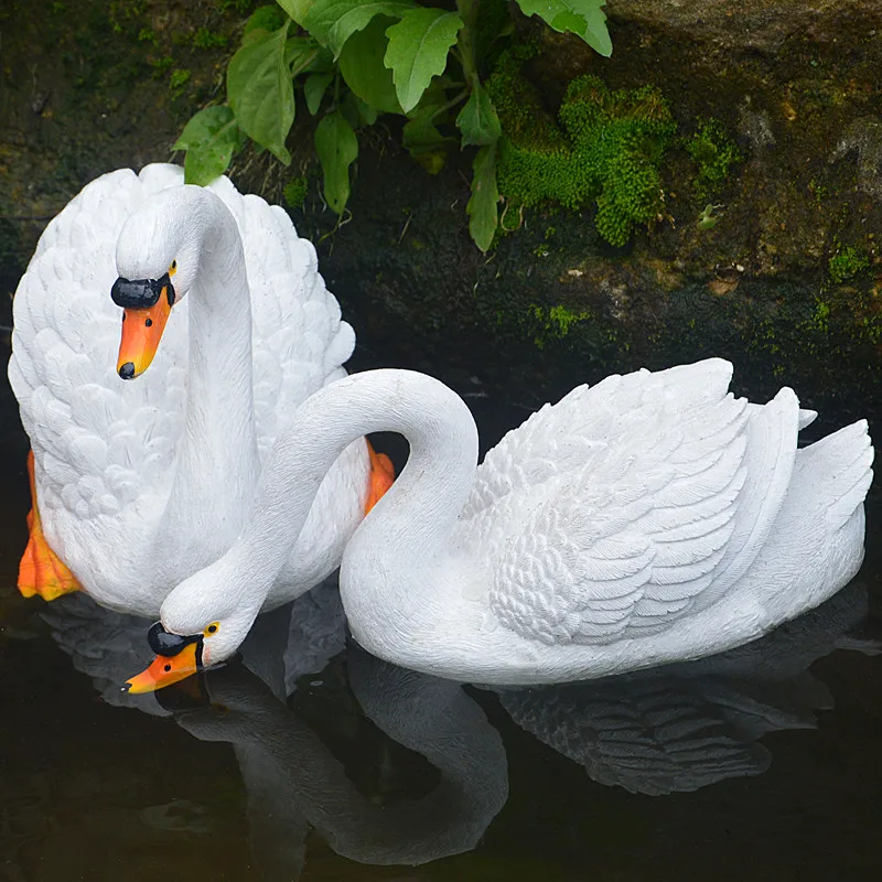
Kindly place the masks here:
<instances>
[{"instance_id":1,"label":"head of the upright swan, orange bill pointing down, black knob","mask_svg":"<svg viewBox=\"0 0 882 882\"><path fill-rule=\"evenodd\" d=\"M119 278L110 289L112 301L122 308L117 359L122 379L150 367L172 306L196 279L205 230L196 209L203 192L182 186L157 193L122 226L117 239Z\"/></svg>"}]
</instances>

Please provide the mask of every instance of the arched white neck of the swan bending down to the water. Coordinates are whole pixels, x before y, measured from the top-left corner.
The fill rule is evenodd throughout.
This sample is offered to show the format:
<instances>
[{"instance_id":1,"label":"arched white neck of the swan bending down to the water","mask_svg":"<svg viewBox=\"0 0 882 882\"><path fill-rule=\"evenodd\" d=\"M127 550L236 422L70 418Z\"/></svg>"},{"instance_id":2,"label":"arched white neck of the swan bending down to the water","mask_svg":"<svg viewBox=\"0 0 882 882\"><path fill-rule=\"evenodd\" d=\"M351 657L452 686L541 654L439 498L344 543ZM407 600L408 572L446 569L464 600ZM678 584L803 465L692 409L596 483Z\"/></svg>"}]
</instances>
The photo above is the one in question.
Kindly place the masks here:
<instances>
[{"instance_id":1,"label":"arched white neck of the swan bending down to the water","mask_svg":"<svg viewBox=\"0 0 882 882\"><path fill-rule=\"evenodd\" d=\"M355 439L381 431L404 434L410 455L356 530L344 561L376 557L386 578L398 569L412 577L444 547L474 484L472 415L437 379L410 370L368 370L311 396L277 440L248 525L230 549L256 591L269 590L337 455Z\"/></svg>"}]
</instances>

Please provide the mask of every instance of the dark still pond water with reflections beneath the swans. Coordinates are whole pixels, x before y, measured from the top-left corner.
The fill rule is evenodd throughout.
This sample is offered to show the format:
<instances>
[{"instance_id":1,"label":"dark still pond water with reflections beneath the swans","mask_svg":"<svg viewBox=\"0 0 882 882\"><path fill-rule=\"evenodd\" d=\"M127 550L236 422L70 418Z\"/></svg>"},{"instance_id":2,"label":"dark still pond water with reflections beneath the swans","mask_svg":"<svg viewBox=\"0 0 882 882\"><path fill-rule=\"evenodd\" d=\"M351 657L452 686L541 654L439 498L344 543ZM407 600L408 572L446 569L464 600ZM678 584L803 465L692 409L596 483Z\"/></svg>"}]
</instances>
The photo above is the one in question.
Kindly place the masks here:
<instances>
[{"instance_id":1,"label":"dark still pond water with reflections beneath the swans","mask_svg":"<svg viewBox=\"0 0 882 882\"><path fill-rule=\"evenodd\" d=\"M485 447L526 416L467 400ZM11 588L28 445L6 372L0 421L0 880L879 878L878 492L854 582L713 659L461 687L347 647L330 588L239 663L136 698L143 621Z\"/></svg>"}]
</instances>

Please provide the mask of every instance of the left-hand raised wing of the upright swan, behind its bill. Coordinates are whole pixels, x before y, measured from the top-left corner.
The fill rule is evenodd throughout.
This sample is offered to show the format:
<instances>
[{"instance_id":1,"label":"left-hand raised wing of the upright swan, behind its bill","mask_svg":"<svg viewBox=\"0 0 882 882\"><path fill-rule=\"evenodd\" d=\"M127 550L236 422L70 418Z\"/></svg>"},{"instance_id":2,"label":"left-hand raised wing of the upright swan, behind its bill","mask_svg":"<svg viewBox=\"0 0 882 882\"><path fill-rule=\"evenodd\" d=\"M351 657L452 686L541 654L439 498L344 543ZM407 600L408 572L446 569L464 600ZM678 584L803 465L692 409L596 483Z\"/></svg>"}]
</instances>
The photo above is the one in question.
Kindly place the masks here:
<instances>
[{"instance_id":1,"label":"left-hand raised wing of the upright swan, behind its bill","mask_svg":"<svg viewBox=\"0 0 882 882\"><path fill-rule=\"evenodd\" d=\"M149 195L182 183L175 165L89 183L46 227L13 303L9 378L35 458L41 512L118 516L168 488L183 427L186 310L175 310L138 383L116 375L121 311L110 300L116 243Z\"/></svg>"}]
</instances>

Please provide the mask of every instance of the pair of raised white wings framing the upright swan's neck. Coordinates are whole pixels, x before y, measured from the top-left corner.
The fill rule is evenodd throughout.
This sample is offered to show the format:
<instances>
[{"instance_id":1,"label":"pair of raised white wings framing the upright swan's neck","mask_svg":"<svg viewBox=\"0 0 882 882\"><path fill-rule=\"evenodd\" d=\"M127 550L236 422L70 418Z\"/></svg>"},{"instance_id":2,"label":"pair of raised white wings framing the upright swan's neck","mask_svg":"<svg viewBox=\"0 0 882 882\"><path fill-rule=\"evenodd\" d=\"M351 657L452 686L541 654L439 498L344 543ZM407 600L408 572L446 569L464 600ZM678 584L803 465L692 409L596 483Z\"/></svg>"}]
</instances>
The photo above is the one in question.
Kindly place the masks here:
<instances>
[{"instance_id":1,"label":"pair of raised white wings framing the upright swan's neck","mask_svg":"<svg viewBox=\"0 0 882 882\"><path fill-rule=\"evenodd\" d=\"M67 514L118 517L131 505L146 513L170 492L185 417L189 301L172 310L153 367L123 383L116 374L121 311L110 288L126 220L182 184L183 170L161 163L87 184L47 225L15 292L10 383L35 453L41 510L65 523ZM243 239L263 452L303 399L343 375L354 334L288 215L243 196L226 178L209 189ZM45 526L61 545L53 512Z\"/></svg>"}]
</instances>

